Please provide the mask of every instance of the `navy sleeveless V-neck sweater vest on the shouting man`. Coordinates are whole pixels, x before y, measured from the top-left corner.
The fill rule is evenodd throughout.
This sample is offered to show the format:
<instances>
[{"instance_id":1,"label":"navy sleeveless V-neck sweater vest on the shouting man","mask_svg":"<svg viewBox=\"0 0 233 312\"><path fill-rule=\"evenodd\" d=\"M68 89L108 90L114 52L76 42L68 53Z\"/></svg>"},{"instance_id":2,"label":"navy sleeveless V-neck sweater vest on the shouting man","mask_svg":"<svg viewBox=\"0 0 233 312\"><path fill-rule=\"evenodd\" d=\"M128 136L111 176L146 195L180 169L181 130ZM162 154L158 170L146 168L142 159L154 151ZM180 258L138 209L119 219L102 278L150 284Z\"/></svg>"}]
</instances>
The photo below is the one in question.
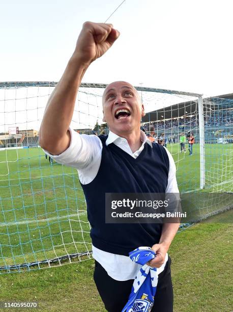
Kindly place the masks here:
<instances>
[{"instance_id":1,"label":"navy sleeveless V-neck sweater vest on the shouting man","mask_svg":"<svg viewBox=\"0 0 233 312\"><path fill-rule=\"evenodd\" d=\"M129 255L140 246L159 243L162 224L106 224L105 193L165 193L169 159L165 148L145 143L134 159L114 143L106 146L107 136L99 136L102 158L94 180L82 189L92 226L91 238L96 248L114 254Z\"/></svg>"}]
</instances>

